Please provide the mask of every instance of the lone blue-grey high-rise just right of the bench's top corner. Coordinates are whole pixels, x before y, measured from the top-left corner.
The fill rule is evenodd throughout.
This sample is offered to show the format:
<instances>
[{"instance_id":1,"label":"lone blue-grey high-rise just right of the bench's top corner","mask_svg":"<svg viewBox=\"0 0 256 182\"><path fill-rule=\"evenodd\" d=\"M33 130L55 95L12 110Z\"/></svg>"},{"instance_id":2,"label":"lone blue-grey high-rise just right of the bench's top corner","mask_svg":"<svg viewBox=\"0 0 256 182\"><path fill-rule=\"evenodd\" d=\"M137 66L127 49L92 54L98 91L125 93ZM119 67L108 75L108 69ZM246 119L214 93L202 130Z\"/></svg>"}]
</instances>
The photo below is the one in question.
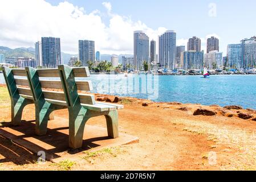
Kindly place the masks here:
<instances>
[{"instance_id":1,"label":"lone blue-grey high-rise just right of the bench's top corner","mask_svg":"<svg viewBox=\"0 0 256 182\"><path fill-rule=\"evenodd\" d=\"M79 40L79 60L83 66L87 66L88 61L95 61L95 47L92 40Z\"/></svg>"}]
</instances>

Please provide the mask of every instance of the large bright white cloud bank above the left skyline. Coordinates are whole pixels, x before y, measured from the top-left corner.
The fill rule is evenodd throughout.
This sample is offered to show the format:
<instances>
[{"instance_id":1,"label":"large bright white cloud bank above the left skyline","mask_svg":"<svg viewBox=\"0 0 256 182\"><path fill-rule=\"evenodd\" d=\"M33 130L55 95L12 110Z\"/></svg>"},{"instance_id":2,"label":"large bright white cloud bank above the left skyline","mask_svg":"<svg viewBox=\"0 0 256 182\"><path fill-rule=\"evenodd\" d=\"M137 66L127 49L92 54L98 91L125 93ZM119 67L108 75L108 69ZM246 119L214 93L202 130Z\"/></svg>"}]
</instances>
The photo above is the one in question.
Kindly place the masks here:
<instances>
[{"instance_id":1,"label":"large bright white cloud bank above the left skyline","mask_svg":"<svg viewBox=\"0 0 256 182\"><path fill-rule=\"evenodd\" d=\"M0 1L0 46L34 47L42 36L54 36L60 38L63 52L78 53L78 40L88 39L95 41L95 49L101 53L133 53L133 31L143 30L155 40L166 31L112 13L109 2L103 2L103 6L109 24L99 10L87 13L83 7L66 1L58 6L43 0Z\"/></svg>"}]
</instances>

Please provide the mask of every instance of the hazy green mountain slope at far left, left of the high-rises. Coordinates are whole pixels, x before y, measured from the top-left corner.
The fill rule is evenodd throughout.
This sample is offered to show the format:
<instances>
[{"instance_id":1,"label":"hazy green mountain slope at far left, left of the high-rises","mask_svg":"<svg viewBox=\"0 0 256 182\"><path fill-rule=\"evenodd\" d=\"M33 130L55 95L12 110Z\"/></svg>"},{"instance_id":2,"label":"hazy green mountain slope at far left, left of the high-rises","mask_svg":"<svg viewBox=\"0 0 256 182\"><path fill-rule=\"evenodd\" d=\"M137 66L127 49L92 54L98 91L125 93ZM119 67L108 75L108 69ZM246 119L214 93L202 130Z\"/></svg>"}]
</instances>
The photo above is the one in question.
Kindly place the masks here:
<instances>
[{"instance_id":1,"label":"hazy green mountain slope at far left, left of the high-rises","mask_svg":"<svg viewBox=\"0 0 256 182\"><path fill-rule=\"evenodd\" d=\"M5 55L5 57L35 57L35 49L32 47L11 49L0 46L0 54Z\"/></svg>"}]
</instances>

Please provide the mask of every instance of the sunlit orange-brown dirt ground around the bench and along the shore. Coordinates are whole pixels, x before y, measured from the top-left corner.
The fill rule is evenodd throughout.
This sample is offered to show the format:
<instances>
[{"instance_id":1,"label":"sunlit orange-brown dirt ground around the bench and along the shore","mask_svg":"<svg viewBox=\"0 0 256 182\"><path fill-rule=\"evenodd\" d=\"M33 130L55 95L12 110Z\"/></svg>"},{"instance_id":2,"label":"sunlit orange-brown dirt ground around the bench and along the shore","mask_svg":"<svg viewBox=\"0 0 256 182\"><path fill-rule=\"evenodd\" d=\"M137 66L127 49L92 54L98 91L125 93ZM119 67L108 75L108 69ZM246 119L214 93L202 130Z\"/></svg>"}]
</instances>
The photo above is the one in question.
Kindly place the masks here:
<instances>
[{"instance_id":1,"label":"sunlit orange-brown dirt ground around the bench and along the shore","mask_svg":"<svg viewBox=\"0 0 256 182\"><path fill-rule=\"evenodd\" d=\"M96 98L104 97L109 96L96 94ZM0 87L0 102L0 121L10 122L10 100L4 86ZM122 98L119 104L125 107L119 110L119 131L138 137L139 143L86 152L79 162L54 164L38 163L38 156L0 137L0 170L256 169L255 110L155 103L135 98ZM193 115L197 109L217 114ZM239 113L253 118L238 118ZM55 111L55 115L68 118L68 111ZM34 105L25 108L22 119L35 119ZM88 125L105 127L104 117L92 118Z\"/></svg>"}]
</instances>

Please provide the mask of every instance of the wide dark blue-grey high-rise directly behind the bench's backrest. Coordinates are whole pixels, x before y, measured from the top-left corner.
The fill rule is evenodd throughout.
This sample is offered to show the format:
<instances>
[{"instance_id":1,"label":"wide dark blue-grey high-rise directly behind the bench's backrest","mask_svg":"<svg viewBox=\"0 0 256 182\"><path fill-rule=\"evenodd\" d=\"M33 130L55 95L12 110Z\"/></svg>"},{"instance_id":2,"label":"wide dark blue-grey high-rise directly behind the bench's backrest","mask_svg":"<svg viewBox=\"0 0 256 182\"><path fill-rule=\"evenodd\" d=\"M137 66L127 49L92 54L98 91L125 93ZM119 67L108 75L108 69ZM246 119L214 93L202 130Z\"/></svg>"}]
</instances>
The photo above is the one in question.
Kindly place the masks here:
<instances>
[{"instance_id":1,"label":"wide dark blue-grey high-rise directly behind the bench's backrest","mask_svg":"<svg viewBox=\"0 0 256 182\"><path fill-rule=\"evenodd\" d=\"M62 64L60 38L42 38L42 67L56 68Z\"/></svg>"}]
</instances>

